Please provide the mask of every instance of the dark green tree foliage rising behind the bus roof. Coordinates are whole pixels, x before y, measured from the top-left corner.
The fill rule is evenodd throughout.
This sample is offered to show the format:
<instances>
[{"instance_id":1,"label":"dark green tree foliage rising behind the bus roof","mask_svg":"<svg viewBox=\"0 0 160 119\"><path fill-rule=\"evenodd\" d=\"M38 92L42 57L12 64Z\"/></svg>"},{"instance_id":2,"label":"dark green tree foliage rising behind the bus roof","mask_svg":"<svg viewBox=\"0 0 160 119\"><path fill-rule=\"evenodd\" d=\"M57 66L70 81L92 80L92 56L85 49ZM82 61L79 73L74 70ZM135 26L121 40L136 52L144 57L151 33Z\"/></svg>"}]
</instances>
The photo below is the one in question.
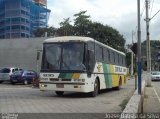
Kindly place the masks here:
<instances>
[{"instance_id":1,"label":"dark green tree foliage rising behind the bus roof","mask_svg":"<svg viewBox=\"0 0 160 119\"><path fill-rule=\"evenodd\" d=\"M60 28L55 29L38 29L35 32L35 36L42 37L44 32L49 32L48 36L86 36L92 37L104 44L107 44L119 51L125 51L125 39L123 35L116 29L103 25L99 22L93 22L90 20L90 16L86 15L87 11L80 11L74 14L74 25L70 24L70 18L64 19L60 22ZM53 29L54 28L54 29Z\"/></svg>"}]
</instances>

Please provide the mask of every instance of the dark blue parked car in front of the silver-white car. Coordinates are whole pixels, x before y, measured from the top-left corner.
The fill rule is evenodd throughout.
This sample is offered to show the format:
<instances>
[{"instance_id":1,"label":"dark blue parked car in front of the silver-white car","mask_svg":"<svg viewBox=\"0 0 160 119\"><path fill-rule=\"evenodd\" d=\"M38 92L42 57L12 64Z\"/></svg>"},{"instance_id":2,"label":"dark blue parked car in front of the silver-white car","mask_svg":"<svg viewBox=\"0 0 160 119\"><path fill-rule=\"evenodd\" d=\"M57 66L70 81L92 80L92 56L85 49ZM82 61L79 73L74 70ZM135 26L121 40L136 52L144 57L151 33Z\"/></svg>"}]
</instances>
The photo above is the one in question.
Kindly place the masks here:
<instances>
[{"instance_id":1,"label":"dark blue parked car in front of the silver-white car","mask_svg":"<svg viewBox=\"0 0 160 119\"><path fill-rule=\"evenodd\" d=\"M37 78L38 78L38 74L35 71L22 70L22 71L15 71L11 75L10 81L12 84L23 83L27 85L27 84L31 84L33 80Z\"/></svg>"}]
</instances>

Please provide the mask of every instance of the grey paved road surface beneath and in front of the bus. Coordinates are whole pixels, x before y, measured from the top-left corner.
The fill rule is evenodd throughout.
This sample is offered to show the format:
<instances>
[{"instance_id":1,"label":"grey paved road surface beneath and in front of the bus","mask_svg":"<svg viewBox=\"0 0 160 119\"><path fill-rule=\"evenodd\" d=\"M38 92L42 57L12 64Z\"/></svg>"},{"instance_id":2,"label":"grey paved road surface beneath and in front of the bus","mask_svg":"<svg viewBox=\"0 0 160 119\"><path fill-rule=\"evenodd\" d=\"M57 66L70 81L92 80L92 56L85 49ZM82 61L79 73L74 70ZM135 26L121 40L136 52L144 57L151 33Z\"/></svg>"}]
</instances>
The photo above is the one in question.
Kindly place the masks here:
<instances>
[{"instance_id":1,"label":"grey paved road surface beneath and in front of the bus","mask_svg":"<svg viewBox=\"0 0 160 119\"><path fill-rule=\"evenodd\" d=\"M54 91L42 92L30 85L2 83L0 113L120 113L123 103L133 93L133 79L128 80L120 90L103 90L95 98L84 93L65 93L63 97L58 97Z\"/></svg>"}]
</instances>

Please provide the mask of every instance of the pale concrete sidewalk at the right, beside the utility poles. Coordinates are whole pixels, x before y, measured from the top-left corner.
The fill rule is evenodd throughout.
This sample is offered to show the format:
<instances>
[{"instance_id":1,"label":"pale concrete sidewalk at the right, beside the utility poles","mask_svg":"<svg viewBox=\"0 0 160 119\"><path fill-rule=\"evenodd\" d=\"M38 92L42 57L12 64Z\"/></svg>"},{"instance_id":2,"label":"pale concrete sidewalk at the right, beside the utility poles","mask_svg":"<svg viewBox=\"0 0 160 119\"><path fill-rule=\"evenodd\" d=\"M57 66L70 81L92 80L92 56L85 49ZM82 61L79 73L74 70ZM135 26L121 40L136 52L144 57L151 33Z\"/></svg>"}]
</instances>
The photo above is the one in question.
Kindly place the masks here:
<instances>
[{"instance_id":1,"label":"pale concrete sidewalk at the right, beside the utility poles","mask_svg":"<svg viewBox=\"0 0 160 119\"><path fill-rule=\"evenodd\" d=\"M160 113L160 101L153 85L152 87L145 87L143 112Z\"/></svg>"}]
</instances>

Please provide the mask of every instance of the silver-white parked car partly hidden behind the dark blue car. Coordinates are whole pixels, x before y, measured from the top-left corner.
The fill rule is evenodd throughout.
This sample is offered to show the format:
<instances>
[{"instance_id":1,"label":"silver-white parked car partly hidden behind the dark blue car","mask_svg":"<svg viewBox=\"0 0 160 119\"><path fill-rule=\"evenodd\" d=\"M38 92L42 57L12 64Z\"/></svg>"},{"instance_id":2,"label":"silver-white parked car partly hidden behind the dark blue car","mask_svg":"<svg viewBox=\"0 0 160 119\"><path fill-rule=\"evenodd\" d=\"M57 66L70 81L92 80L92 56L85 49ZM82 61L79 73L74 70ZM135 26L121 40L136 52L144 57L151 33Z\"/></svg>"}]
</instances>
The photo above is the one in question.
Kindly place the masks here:
<instances>
[{"instance_id":1,"label":"silver-white parked car partly hidden behind the dark blue car","mask_svg":"<svg viewBox=\"0 0 160 119\"><path fill-rule=\"evenodd\" d=\"M8 68L2 68L0 70L0 83L4 81L10 81L10 76L15 72L15 71L21 71L22 69L17 68L17 67L8 67Z\"/></svg>"}]
</instances>

